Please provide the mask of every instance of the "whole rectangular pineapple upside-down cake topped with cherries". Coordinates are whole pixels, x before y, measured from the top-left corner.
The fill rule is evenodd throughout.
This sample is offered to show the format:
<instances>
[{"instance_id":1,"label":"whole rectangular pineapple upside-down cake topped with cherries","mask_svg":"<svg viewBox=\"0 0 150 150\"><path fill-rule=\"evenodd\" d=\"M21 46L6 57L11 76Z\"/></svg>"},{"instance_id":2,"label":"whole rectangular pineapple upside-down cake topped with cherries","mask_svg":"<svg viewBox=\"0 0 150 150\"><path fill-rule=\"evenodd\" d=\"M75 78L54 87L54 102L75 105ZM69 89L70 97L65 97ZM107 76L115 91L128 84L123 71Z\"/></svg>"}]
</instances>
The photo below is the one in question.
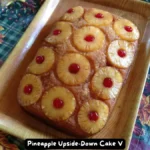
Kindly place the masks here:
<instances>
[{"instance_id":1,"label":"whole rectangular pineapple upside-down cake topped with cherries","mask_svg":"<svg viewBox=\"0 0 150 150\"><path fill-rule=\"evenodd\" d=\"M106 124L137 50L135 24L77 6L54 24L18 89L28 112L76 136Z\"/></svg>"}]
</instances>

